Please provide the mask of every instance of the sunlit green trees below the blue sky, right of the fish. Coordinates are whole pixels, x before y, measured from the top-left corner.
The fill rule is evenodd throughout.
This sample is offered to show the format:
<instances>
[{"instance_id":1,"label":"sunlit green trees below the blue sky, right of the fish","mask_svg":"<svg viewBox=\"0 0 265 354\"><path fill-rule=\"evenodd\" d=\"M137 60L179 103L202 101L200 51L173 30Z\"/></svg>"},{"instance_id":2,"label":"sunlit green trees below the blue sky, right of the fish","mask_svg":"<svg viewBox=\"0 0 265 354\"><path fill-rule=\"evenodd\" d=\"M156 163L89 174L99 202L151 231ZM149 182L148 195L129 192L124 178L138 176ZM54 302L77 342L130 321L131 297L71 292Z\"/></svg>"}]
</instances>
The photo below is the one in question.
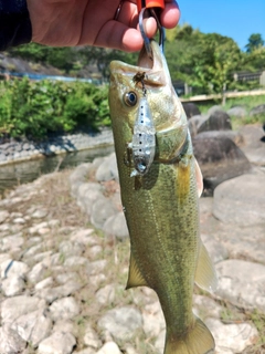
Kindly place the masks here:
<instances>
[{"instance_id":1,"label":"sunlit green trees below the blue sky, right of the fish","mask_svg":"<svg viewBox=\"0 0 265 354\"><path fill-rule=\"evenodd\" d=\"M246 52L229 37L202 33L189 24L168 31L167 38L166 58L172 80L187 82L193 94L258 87L256 82L234 81L234 73L265 70L261 34L250 37Z\"/></svg>"}]
</instances>

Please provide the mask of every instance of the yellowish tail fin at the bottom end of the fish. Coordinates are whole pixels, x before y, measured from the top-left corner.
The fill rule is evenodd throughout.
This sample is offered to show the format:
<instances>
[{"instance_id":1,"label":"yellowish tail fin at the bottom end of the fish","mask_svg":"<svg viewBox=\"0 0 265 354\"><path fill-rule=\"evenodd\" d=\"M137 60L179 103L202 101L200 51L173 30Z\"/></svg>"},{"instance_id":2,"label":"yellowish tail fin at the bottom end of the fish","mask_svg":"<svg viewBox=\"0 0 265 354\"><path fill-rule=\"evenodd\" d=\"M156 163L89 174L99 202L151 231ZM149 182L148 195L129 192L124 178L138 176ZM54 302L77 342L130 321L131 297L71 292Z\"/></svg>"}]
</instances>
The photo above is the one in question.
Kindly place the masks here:
<instances>
[{"instance_id":1,"label":"yellowish tail fin at the bottom end of the fish","mask_svg":"<svg viewBox=\"0 0 265 354\"><path fill-rule=\"evenodd\" d=\"M167 332L165 354L213 354L214 339L206 325L194 315L194 325L184 336Z\"/></svg>"}]
</instances>

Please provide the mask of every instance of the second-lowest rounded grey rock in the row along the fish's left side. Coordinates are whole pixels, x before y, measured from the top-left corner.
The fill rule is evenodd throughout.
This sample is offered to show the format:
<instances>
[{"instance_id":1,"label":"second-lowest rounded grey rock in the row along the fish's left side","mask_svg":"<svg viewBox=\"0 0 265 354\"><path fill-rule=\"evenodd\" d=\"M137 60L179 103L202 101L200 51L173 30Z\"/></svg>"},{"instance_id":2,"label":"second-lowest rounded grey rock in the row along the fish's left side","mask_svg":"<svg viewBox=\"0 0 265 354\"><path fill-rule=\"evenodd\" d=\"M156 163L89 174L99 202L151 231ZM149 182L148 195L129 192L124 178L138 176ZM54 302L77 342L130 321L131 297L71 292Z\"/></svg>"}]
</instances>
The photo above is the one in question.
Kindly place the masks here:
<instances>
[{"instance_id":1,"label":"second-lowest rounded grey rock in the row along the fish's left side","mask_svg":"<svg viewBox=\"0 0 265 354\"><path fill-rule=\"evenodd\" d=\"M102 229L105 221L116 212L117 210L115 209L113 202L109 199L102 197L92 206L91 222L96 228Z\"/></svg>"}]
</instances>

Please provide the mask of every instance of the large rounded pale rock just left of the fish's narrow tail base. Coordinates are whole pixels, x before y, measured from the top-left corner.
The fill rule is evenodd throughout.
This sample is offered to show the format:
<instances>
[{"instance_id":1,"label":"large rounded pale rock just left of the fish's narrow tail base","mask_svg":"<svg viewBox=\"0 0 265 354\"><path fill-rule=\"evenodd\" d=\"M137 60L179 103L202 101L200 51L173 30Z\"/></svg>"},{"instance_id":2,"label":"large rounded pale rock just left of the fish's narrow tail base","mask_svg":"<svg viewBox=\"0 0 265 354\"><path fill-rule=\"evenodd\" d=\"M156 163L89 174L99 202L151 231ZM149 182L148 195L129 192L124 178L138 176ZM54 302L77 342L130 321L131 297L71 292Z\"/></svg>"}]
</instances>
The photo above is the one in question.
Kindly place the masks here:
<instances>
[{"instance_id":1,"label":"large rounded pale rock just left of the fish's narrow tail base","mask_svg":"<svg viewBox=\"0 0 265 354\"><path fill-rule=\"evenodd\" d=\"M127 341L137 329L142 325L142 317L138 310L124 306L107 311L98 321L98 327L108 331L114 339Z\"/></svg>"}]
</instances>

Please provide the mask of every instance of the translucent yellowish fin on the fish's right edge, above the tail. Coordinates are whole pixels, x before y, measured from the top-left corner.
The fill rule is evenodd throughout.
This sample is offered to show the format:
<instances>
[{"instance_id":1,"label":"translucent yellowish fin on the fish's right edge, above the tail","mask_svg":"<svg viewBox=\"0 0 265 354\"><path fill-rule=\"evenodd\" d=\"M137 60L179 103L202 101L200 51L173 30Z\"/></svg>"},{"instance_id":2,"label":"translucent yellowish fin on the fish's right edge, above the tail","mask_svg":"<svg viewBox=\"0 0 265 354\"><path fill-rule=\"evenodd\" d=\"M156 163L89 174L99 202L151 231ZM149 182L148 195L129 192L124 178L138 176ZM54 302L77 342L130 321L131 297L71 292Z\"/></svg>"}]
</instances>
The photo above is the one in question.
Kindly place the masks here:
<instances>
[{"instance_id":1,"label":"translucent yellowish fin on the fish's right edge, above the tail","mask_svg":"<svg viewBox=\"0 0 265 354\"><path fill-rule=\"evenodd\" d=\"M203 290L213 292L218 288L218 277L212 260L201 242L195 271L195 283Z\"/></svg>"}]
</instances>

